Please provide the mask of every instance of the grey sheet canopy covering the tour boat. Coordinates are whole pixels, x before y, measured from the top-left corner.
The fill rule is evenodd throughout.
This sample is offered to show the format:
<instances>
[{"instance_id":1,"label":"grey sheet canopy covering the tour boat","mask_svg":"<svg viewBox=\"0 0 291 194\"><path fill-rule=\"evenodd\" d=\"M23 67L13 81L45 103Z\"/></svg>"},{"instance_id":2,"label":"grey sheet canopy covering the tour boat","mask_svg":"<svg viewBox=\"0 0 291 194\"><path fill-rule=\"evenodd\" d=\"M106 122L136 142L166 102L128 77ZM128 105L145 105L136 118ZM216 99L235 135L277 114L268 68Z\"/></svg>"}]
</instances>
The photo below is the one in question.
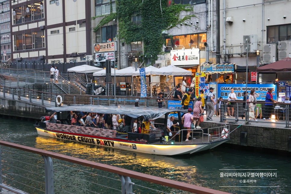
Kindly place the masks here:
<instances>
[{"instance_id":1,"label":"grey sheet canopy covering the tour boat","mask_svg":"<svg viewBox=\"0 0 291 194\"><path fill-rule=\"evenodd\" d=\"M164 114L170 114L172 112L186 113L188 110L169 110L162 108L146 108L146 107L121 107L121 106L102 106L102 105L72 105L64 107L50 107L46 108L47 111L61 112L61 111L85 111L96 112L105 114L126 114L133 118L143 116L145 120L154 120Z\"/></svg>"}]
</instances>

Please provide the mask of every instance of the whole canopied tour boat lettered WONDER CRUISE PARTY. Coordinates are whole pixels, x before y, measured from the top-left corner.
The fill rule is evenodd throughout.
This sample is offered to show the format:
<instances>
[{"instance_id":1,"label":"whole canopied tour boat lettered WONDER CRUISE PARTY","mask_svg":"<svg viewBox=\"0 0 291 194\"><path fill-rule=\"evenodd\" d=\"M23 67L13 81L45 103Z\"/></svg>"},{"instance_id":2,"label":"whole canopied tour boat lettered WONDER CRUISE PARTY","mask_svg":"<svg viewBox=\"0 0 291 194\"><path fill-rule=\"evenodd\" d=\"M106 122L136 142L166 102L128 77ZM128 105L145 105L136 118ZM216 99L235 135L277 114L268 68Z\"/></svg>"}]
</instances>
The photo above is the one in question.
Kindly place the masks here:
<instances>
[{"instance_id":1,"label":"whole canopied tour boat lettered WONDER CRUISE PARTY","mask_svg":"<svg viewBox=\"0 0 291 194\"><path fill-rule=\"evenodd\" d=\"M191 129L188 141L185 141L187 130L180 124L172 130L172 136L168 137L166 134L168 117L174 116L176 120L174 123L181 123L181 114L185 114L187 110L102 105L70 105L46 110L51 114L56 112L57 120L61 123L49 123L48 116L42 117L46 120L42 119L34 125L39 135L133 152L155 155L193 154L212 149L229 140L229 125L225 124L211 129ZM131 133L124 132L122 128L113 130L70 125L67 119L69 111L120 114L138 120L155 120L157 129L150 130L149 133Z\"/></svg>"}]
</instances>

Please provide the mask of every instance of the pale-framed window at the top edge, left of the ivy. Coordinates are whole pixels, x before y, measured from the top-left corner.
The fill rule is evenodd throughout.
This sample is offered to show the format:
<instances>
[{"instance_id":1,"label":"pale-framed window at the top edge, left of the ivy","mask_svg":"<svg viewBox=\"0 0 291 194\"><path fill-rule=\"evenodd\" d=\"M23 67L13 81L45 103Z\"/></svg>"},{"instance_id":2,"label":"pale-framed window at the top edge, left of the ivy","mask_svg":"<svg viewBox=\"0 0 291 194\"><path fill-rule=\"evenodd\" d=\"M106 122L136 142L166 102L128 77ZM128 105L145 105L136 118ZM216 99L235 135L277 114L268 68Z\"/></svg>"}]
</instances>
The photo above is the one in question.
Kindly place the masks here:
<instances>
[{"instance_id":1,"label":"pale-framed window at the top edge, left of the ivy","mask_svg":"<svg viewBox=\"0 0 291 194\"><path fill-rule=\"evenodd\" d=\"M95 15L107 15L116 12L115 1L110 3L110 0L96 0Z\"/></svg>"}]
</instances>

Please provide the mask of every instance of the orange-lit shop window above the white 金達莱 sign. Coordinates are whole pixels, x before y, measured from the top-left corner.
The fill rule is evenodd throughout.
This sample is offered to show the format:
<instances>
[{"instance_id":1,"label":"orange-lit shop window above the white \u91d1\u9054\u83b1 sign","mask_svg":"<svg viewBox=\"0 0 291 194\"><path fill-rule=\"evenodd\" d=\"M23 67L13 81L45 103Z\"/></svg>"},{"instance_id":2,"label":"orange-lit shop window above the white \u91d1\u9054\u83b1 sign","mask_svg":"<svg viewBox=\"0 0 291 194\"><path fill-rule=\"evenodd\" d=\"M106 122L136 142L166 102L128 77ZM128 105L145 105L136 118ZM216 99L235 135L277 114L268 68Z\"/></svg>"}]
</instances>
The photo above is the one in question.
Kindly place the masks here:
<instances>
[{"instance_id":1,"label":"orange-lit shop window above the white \u91d1\u9054\u83b1 sign","mask_svg":"<svg viewBox=\"0 0 291 194\"><path fill-rule=\"evenodd\" d=\"M200 50L205 50L204 42L206 41L207 41L206 33L188 34L188 35L181 35L181 36L173 36L173 44L170 38L166 39L166 46L173 47L174 45L183 45L185 49L191 49L191 48L196 48L195 45L197 45L197 48L199 48ZM171 48L167 47L166 49L171 49Z\"/></svg>"}]
</instances>

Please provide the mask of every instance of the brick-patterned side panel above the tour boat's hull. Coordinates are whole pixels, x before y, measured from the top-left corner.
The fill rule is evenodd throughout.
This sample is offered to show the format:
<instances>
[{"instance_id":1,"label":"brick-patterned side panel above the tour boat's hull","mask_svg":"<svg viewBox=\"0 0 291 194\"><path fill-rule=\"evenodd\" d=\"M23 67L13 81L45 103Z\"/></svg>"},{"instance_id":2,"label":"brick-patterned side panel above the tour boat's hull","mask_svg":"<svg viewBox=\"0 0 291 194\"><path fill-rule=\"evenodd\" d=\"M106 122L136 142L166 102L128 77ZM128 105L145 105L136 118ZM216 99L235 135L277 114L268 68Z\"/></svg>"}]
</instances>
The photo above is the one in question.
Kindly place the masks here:
<instances>
[{"instance_id":1,"label":"brick-patterned side panel above the tour boat's hull","mask_svg":"<svg viewBox=\"0 0 291 194\"><path fill-rule=\"evenodd\" d=\"M93 127L81 127L81 126L74 126L74 125L47 123L46 129L68 132L68 133L80 133L80 134L85 134L85 135L108 137L108 138L116 137L115 130L99 129L99 128L93 128Z\"/></svg>"}]
</instances>

